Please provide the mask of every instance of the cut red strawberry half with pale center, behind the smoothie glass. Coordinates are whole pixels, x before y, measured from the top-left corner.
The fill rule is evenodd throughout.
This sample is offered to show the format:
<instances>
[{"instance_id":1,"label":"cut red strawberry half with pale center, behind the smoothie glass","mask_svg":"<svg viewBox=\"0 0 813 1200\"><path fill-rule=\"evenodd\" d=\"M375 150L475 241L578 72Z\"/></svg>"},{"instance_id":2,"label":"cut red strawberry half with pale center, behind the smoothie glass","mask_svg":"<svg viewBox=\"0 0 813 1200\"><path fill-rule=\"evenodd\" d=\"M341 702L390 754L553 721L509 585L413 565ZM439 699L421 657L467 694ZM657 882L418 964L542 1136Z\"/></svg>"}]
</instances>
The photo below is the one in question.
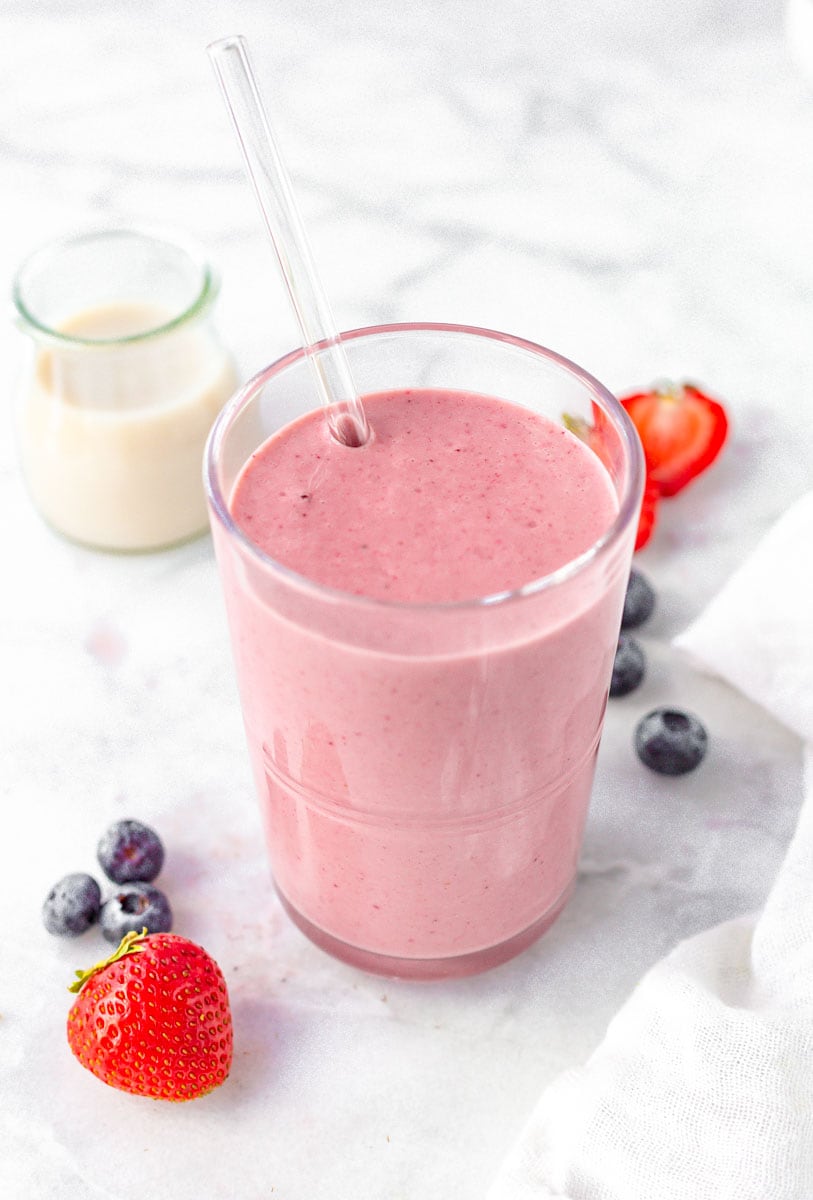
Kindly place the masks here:
<instances>
[{"instance_id":1,"label":"cut red strawberry half with pale center, behind the smoothie glass","mask_svg":"<svg viewBox=\"0 0 813 1200\"><path fill-rule=\"evenodd\" d=\"M661 496L686 487L719 454L728 433L723 406L693 384L669 384L621 397Z\"/></svg>"}]
</instances>

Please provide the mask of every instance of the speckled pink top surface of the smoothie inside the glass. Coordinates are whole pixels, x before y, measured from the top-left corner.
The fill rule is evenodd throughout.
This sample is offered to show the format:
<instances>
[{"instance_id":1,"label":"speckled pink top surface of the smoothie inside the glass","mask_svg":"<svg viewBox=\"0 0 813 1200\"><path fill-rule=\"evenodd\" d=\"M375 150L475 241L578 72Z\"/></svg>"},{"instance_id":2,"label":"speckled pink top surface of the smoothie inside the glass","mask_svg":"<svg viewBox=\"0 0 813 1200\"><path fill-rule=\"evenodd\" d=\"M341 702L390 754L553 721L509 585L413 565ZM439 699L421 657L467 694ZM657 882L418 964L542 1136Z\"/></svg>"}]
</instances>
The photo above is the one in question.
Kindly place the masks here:
<instances>
[{"instance_id":1,"label":"speckled pink top surface of the smoothie inside the glass","mask_svg":"<svg viewBox=\"0 0 813 1200\"><path fill-rule=\"evenodd\" d=\"M300 575L412 604L522 587L588 550L618 511L578 438L489 396L363 398L374 437L337 443L321 412L265 442L230 502L237 526Z\"/></svg>"}]
</instances>

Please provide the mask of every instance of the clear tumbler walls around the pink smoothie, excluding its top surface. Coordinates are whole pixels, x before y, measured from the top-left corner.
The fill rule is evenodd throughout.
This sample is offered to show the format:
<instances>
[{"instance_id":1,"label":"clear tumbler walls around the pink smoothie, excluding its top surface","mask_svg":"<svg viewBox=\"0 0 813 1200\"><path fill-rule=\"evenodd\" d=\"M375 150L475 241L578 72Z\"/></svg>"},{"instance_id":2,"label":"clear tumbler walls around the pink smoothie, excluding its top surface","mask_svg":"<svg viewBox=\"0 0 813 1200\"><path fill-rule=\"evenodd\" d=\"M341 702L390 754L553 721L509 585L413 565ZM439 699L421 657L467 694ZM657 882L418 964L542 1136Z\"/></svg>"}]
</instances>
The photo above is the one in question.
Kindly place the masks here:
<instances>
[{"instance_id":1,"label":"clear tumbler walls around the pink smoothie, excluding its top surface","mask_svg":"<svg viewBox=\"0 0 813 1200\"><path fill-rule=\"evenodd\" d=\"M365 970L468 974L534 942L572 890L643 457L615 398L530 342L416 324L342 340L362 394L474 391L580 427L618 497L612 527L544 578L474 601L385 602L273 562L229 511L251 455L314 407L305 353L246 384L212 428L211 523L281 900Z\"/></svg>"}]
</instances>

